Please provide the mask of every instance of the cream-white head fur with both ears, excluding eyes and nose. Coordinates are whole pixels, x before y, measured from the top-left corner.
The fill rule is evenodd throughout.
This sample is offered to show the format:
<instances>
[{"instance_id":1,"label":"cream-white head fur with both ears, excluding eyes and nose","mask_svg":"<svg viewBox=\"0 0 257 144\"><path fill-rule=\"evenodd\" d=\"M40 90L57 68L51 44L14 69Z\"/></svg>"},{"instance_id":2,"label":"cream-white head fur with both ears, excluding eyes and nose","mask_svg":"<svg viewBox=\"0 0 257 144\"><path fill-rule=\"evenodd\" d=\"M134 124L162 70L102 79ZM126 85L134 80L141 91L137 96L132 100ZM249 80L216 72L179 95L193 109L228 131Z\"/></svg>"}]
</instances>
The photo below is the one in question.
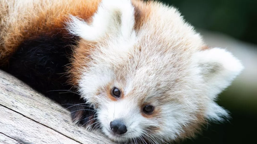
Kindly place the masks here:
<instances>
[{"instance_id":1,"label":"cream-white head fur with both ears, excluding eyes and nose","mask_svg":"<svg viewBox=\"0 0 257 144\"><path fill-rule=\"evenodd\" d=\"M201 36L175 8L156 2L148 7L139 30L129 0L103 0L91 24L73 16L68 23L72 34L94 42L79 90L115 141L145 137L161 143L193 136L205 120L222 121L228 114L215 103L217 94L243 69L224 49L201 50ZM110 98L113 87L122 98ZM154 106L153 114L142 112L145 104ZM125 134L112 134L115 119L124 122Z\"/></svg>"}]
</instances>

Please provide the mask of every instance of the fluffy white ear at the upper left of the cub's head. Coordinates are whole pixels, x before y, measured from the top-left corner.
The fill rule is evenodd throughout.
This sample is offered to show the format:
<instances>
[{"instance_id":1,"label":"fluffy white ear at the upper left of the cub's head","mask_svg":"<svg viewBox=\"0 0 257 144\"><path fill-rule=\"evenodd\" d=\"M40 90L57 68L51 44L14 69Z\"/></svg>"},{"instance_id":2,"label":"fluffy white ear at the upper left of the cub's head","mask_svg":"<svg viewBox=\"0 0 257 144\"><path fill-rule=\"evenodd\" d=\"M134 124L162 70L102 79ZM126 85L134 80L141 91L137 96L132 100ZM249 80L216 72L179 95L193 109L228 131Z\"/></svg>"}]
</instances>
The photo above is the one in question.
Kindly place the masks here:
<instances>
[{"instance_id":1,"label":"fluffy white ear at the upper left of the cub's head","mask_svg":"<svg viewBox=\"0 0 257 144\"><path fill-rule=\"evenodd\" d=\"M88 41L98 41L106 34L127 39L133 34L134 8L130 0L102 0L90 25L71 15L67 26L71 34Z\"/></svg>"}]
</instances>

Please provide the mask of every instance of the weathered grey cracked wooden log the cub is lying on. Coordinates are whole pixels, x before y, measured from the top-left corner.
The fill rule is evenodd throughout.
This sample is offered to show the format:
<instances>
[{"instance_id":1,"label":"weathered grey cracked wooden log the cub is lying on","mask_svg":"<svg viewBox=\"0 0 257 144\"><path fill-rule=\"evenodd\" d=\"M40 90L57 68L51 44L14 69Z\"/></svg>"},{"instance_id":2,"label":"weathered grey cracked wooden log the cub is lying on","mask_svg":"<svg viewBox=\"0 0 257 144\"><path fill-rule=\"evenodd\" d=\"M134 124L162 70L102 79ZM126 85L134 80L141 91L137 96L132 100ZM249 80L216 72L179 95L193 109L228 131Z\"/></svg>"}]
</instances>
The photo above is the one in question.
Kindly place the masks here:
<instances>
[{"instance_id":1,"label":"weathered grey cracked wooden log the cub is lying on","mask_svg":"<svg viewBox=\"0 0 257 144\"><path fill-rule=\"evenodd\" d=\"M72 123L69 111L3 71L0 71L0 107L0 133L15 140L19 138L27 143L113 143L100 132L89 132Z\"/></svg>"}]
</instances>

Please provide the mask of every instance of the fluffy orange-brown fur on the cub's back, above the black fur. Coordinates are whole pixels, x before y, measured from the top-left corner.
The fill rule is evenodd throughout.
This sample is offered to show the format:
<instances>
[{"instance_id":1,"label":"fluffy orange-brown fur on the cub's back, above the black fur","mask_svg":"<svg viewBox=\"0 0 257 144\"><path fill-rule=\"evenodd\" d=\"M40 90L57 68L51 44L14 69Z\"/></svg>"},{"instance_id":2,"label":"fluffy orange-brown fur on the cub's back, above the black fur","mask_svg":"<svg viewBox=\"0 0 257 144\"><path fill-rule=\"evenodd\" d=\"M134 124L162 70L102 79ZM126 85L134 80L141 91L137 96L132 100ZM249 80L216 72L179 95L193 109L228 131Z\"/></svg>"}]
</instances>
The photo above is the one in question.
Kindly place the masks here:
<instances>
[{"instance_id":1,"label":"fluffy orange-brown fur on the cub's back, above the black fur","mask_svg":"<svg viewBox=\"0 0 257 144\"><path fill-rule=\"evenodd\" d=\"M1 65L15 53L19 45L40 36L67 35L68 14L89 19L100 1L2 1L1 2Z\"/></svg>"}]
</instances>

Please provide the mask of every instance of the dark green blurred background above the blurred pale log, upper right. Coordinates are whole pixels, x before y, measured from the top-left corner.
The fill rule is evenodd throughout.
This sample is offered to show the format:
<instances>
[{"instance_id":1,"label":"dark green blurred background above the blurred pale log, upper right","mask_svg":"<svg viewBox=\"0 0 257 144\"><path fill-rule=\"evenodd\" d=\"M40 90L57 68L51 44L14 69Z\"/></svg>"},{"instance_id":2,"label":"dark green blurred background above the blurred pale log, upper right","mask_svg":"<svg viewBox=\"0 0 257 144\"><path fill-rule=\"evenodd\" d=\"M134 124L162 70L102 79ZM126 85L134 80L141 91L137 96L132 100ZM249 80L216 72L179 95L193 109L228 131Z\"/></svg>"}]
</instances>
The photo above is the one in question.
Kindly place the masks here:
<instances>
[{"instance_id":1,"label":"dark green blurred background above the blurred pale log, upper right","mask_svg":"<svg viewBox=\"0 0 257 144\"><path fill-rule=\"evenodd\" d=\"M257 44L257 0L160 0L197 28Z\"/></svg>"}]
</instances>

